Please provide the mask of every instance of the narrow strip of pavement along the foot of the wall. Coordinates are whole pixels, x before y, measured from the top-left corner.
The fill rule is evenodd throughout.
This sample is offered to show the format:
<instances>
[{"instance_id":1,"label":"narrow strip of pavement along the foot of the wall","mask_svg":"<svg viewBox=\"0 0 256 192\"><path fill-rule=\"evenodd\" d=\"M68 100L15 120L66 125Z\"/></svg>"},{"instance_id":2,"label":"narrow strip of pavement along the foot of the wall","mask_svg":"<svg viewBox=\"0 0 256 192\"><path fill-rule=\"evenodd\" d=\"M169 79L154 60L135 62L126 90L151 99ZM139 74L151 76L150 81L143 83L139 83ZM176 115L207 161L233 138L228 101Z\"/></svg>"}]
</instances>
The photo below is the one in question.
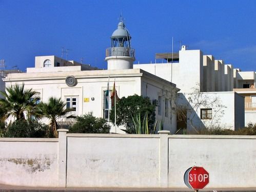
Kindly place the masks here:
<instances>
[{"instance_id":1,"label":"narrow strip of pavement along the foot of the wall","mask_svg":"<svg viewBox=\"0 0 256 192\"><path fill-rule=\"evenodd\" d=\"M75 192L75 191L88 191L88 192L191 192L193 191L192 189L189 188L79 188L79 187L28 187L28 186L13 186L13 185L3 185L0 184L0 192L36 192L36 191L42 191L42 192L51 192L51 191L57 191L57 192L65 192L65 191L70 191L70 192ZM256 188L205 188L200 191L211 191L211 192L231 192L231 191L256 191Z\"/></svg>"}]
</instances>

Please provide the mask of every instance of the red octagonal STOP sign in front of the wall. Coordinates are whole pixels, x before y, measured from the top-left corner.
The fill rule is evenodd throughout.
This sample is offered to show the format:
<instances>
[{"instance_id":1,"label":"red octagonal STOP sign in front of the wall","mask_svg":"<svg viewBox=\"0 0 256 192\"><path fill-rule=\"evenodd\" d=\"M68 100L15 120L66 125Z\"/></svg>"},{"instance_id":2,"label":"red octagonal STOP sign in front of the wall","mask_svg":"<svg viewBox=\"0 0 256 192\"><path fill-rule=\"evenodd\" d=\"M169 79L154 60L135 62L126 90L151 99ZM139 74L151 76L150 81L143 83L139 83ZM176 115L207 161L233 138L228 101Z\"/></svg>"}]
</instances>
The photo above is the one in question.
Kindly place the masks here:
<instances>
[{"instance_id":1,"label":"red octagonal STOP sign in front of the wall","mask_svg":"<svg viewBox=\"0 0 256 192\"><path fill-rule=\"evenodd\" d=\"M193 189L203 189L209 183L209 173L204 167L192 167L188 173L188 183Z\"/></svg>"}]
</instances>

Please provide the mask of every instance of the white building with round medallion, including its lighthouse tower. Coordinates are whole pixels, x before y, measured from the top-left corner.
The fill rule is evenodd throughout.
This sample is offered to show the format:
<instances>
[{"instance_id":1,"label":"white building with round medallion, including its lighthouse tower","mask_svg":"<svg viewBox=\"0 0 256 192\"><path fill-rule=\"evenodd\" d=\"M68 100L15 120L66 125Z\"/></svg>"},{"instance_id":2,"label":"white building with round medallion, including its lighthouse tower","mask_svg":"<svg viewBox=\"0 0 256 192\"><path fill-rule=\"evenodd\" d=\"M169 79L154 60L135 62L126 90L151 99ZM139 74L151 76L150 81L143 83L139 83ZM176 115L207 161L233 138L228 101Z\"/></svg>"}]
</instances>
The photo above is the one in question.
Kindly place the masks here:
<instances>
[{"instance_id":1,"label":"white building with round medallion, including its lighthouse tower","mask_svg":"<svg viewBox=\"0 0 256 192\"><path fill-rule=\"evenodd\" d=\"M123 22L111 36L112 45L107 49L106 60L109 70L95 70L89 65L66 61L56 56L35 57L35 67L27 68L27 73L8 75L6 86L25 84L26 89L40 93L42 101L54 96L67 102L73 108L70 115L82 116L93 112L96 117L108 118L105 105L107 84L112 90L114 81L117 95L142 95L159 100L156 119L162 120L164 129L176 130L175 99L179 91L176 85L141 69L132 69L134 50L130 47L130 35ZM132 113L132 112L131 112ZM132 114L135 115L135 114ZM66 119L63 119L66 121ZM111 132L123 133L113 126Z\"/></svg>"}]
</instances>

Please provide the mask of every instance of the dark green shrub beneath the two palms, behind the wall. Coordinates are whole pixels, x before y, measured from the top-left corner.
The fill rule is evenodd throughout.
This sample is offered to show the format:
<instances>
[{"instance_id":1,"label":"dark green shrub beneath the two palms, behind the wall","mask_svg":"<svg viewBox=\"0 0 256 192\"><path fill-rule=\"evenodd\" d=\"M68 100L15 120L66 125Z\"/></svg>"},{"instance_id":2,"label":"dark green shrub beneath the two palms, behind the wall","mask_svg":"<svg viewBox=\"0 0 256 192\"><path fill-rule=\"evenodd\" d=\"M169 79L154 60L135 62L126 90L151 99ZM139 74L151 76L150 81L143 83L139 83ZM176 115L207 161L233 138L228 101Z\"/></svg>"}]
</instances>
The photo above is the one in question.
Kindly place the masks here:
<instances>
[{"instance_id":1,"label":"dark green shrub beneath the two palms, behind the wall","mask_svg":"<svg viewBox=\"0 0 256 192\"><path fill-rule=\"evenodd\" d=\"M26 121L24 119L16 120L7 126L4 133L5 137L20 138L50 138L49 126L36 120Z\"/></svg>"}]
</instances>

